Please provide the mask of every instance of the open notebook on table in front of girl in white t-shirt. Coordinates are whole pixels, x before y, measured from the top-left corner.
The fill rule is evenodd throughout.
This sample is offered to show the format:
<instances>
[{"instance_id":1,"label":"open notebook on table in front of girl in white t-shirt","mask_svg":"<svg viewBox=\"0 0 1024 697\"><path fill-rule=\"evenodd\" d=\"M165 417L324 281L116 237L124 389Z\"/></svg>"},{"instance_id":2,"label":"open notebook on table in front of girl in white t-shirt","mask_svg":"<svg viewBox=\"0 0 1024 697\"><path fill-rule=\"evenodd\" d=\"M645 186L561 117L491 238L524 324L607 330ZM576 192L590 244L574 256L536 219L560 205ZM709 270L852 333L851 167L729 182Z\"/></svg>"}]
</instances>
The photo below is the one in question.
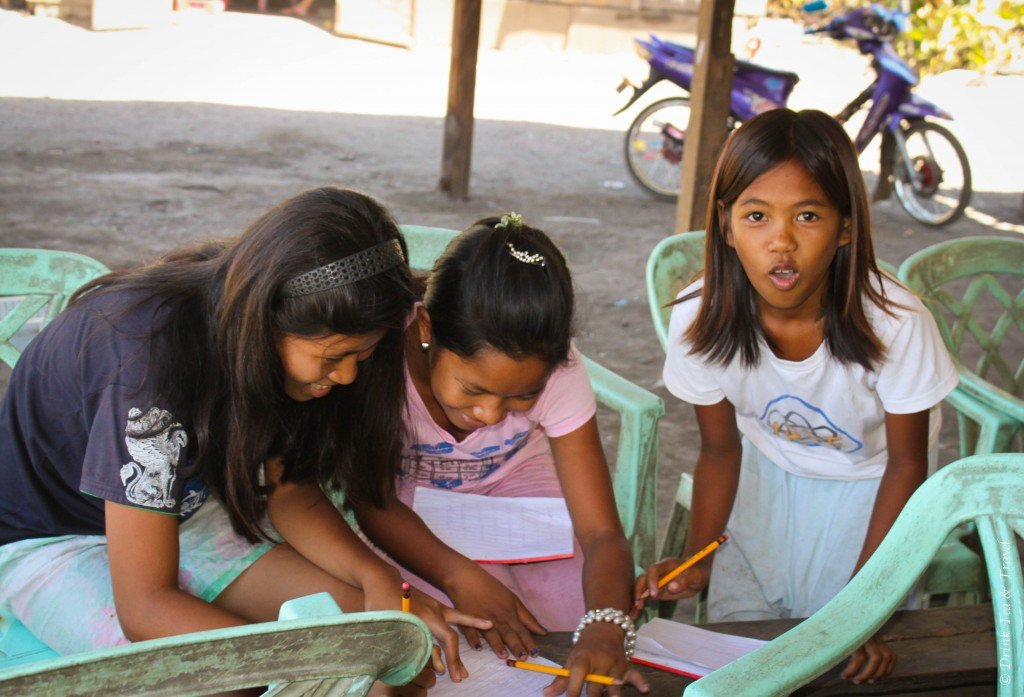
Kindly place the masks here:
<instances>
[{"instance_id":1,"label":"open notebook on table in front of girl in white t-shirt","mask_svg":"<svg viewBox=\"0 0 1024 697\"><path fill-rule=\"evenodd\" d=\"M702 678L767 642L655 618L637 630L634 663Z\"/></svg>"}]
</instances>

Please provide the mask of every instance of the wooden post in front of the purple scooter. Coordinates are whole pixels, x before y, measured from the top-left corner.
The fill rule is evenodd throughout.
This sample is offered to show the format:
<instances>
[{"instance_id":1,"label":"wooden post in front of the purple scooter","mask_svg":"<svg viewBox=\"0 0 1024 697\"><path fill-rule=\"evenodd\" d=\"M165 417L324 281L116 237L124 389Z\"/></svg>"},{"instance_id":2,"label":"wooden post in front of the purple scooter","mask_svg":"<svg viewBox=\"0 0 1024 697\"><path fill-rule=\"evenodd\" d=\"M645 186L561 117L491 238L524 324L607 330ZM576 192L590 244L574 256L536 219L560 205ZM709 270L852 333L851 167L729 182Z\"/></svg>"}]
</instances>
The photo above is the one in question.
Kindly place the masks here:
<instances>
[{"instance_id":1,"label":"wooden post in front of the purple scooter","mask_svg":"<svg viewBox=\"0 0 1024 697\"><path fill-rule=\"evenodd\" d=\"M700 0L697 47L690 88L690 125L683 145L676 231L701 230L715 162L728 135L729 95L735 58L732 42L734 0Z\"/></svg>"}]
</instances>

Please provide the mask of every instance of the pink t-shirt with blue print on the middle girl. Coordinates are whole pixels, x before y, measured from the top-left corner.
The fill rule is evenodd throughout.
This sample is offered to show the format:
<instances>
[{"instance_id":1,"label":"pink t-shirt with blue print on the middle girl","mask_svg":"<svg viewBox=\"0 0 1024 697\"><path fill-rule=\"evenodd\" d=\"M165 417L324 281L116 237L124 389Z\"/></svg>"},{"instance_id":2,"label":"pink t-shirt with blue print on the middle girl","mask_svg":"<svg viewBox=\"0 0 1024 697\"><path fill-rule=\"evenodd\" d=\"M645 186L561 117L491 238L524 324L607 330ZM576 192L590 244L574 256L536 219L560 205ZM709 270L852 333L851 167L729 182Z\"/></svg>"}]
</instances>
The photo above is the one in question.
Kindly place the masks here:
<instances>
[{"instance_id":1,"label":"pink t-shirt with blue print on the middle girl","mask_svg":"<svg viewBox=\"0 0 1024 697\"><path fill-rule=\"evenodd\" d=\"M580 352L551 374L528 411L509 411L494 426L477 429L459 442L438 426L406 367L406 444L401 478L416 486L469 491L484 479L508 476L516 463L549 450L548 437L575 431L597 410L597 400ZM550 455L549 455L550 456Z\"/></svg>"}]
</instances>

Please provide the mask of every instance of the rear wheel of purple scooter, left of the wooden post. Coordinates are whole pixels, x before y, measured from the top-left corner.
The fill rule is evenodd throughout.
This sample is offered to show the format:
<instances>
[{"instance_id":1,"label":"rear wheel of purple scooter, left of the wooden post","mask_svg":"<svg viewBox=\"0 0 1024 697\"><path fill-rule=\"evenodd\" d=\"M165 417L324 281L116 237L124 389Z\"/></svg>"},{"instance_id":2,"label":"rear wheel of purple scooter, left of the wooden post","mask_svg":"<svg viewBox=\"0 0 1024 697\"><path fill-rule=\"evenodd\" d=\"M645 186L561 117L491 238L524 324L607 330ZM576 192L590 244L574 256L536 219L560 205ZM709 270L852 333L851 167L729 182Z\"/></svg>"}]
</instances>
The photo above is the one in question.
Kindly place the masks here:
<instances>
[{"instance_id":1,"label":"rear wheel of purple scooter, left of the wooden post","mask_svg":"<svg viewBox=\"0 0 1024 697\"><path fill-rule=\"evenodd\" d=\"M626 132L626 166L655 199L679 197L683 143L690 123L687 97L660 99L640 112Z\"/></svg>"}]
</instances>

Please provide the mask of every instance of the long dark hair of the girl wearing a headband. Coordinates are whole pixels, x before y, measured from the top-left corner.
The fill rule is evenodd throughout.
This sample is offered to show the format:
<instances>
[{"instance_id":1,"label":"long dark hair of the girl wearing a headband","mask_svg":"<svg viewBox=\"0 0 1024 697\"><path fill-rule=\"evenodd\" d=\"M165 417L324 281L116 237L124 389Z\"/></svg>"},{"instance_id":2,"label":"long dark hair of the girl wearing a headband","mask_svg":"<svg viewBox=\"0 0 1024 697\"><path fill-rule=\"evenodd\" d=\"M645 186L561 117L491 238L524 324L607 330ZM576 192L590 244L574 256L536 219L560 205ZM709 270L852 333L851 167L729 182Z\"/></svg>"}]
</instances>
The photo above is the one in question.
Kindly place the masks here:
<instances>
[{"instance_id":1,"label":"long dark hair of the girl wearing a headband","mask_svg":"<svg viewBox=\"0 0 1024 697\"><path fill-rule=\"evenodd\" d=\"M274 207L239 237L172 252L115 272L75 297L135 291L166 317L152 336L158 396L195 434L204 482L234 529L255 541L266 510L259 473L284 460L284 479L344 486L353 504L382 506L397 470L404 401L402 328L415 301L406 263L299 297L295 276L389 239L391 216L356 191L325 187ZM283 335L322 338L384 330L351 385L297 402L285 394Z\"/></svg>"}]
</instances>

